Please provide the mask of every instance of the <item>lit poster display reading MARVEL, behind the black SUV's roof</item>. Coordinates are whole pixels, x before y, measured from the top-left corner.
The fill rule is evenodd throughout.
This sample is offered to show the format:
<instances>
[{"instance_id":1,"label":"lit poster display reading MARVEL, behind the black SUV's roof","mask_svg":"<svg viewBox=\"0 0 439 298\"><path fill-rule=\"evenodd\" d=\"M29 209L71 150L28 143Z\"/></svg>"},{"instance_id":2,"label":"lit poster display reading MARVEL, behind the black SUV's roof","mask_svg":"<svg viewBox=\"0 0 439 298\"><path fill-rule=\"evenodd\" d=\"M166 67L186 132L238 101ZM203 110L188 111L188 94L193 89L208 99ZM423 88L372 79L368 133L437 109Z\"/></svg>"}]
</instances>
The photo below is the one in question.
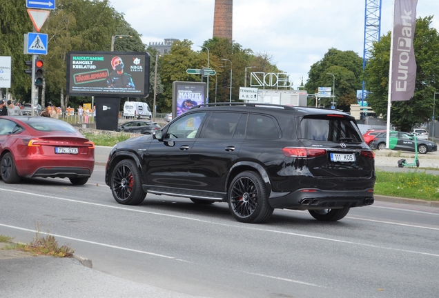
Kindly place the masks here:
<instances>
[{"instance_id":1,"label":"lit poster display reading MARVEL, behind the black SUV's roof","mask_svg":"<svg viewBox=\"0 0 439 298\"><path fill-rule=\"evenodd\" d=\"M173 82L173 116L182 115L202 103L206 103L206 83Z\"/></svg>"}]
</instances>

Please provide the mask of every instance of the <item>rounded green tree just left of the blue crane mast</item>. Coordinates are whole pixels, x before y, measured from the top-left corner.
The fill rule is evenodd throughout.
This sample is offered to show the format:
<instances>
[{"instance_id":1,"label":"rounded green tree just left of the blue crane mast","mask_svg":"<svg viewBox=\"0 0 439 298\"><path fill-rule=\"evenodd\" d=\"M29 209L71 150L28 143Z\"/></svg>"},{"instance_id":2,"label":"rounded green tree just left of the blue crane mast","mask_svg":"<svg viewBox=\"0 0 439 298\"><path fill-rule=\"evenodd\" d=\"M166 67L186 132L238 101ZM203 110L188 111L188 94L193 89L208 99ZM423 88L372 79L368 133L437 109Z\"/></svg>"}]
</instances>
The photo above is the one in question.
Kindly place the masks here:
<instances>
[{"instance_id":1,"label":"rounded green tree just left of the blue crane mast","mask_svg":"<svg viewBox=\"0 0 439 298\"><path fill-rule=\"evenodd\" d=\"M335 76L334 77L331 74ZM357 53L341 51L335 48L328 50L322 60L314 63L308 72L305 90L313 94L319 87L335 85L335 99L338 108L348 111L352 103L356 103L357 90L362 88L362 58ZM330 98L322 98L321 104L331 105Z\"/></svg>"}]
</instances>

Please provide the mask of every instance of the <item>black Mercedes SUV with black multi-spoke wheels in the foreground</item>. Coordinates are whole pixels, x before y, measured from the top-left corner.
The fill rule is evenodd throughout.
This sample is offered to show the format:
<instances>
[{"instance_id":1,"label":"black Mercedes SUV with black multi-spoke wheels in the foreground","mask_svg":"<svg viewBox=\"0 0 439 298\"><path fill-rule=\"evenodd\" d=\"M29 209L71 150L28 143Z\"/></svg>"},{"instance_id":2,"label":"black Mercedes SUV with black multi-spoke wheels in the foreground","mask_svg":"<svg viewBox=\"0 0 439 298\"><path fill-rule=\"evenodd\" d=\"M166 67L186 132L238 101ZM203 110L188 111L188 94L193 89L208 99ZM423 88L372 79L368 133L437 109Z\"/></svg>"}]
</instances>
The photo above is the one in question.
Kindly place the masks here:
<instances>
[{"instance_id":1,"label":"black Mercedes SUV with black multi-spoke wheels in the foreground","mask_svg":"<svg viewBox=\"0 0 439 298\"><path fill-rule=\"evenodd\" d=\"M237 221L261 223L275 208L342 219L373 203L375 165L355 119L337 110L208 103L154 135L117 143L106 184L118 203L146 193L228 203Z\"/></svg>"}]
</instances>

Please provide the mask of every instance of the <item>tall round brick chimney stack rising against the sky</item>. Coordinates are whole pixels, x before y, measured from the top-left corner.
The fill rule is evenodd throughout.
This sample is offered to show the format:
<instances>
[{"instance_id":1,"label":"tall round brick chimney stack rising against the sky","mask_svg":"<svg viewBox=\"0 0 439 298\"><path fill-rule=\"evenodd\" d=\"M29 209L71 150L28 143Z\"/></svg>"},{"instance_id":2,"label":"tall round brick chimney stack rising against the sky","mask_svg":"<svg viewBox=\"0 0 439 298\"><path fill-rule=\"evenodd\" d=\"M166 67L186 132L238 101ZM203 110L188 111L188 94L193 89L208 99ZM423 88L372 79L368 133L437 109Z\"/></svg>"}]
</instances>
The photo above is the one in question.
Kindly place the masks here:
<instances>
[{"instance_id":1,"label":"tall round brick chimney stack rising against the sky","mask_svg":"<svg viewBox=\"0 0 439 298\"><path fill-rule=\"evenodd\" d=\"M233 0L215 0L213 37L226 37L232 41Z\"/></svg>"}]
</instances>

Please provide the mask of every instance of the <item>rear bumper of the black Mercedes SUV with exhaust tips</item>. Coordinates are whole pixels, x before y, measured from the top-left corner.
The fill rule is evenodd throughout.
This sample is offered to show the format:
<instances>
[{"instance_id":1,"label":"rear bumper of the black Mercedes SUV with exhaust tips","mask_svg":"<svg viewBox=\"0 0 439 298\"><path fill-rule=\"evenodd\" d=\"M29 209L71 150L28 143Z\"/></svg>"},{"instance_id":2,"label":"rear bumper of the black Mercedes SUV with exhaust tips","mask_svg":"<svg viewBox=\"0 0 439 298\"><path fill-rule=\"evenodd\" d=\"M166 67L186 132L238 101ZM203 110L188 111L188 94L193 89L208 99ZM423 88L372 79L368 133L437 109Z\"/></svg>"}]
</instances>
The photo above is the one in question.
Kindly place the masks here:
<instances>
[{"instance_id":1,"label":"rear bumper of the black Mercedes SUV with exhaust tips","mask_svg":"<svg viewBox=\"0 0 439 298\"><path fill-rule=\"evenodd\" d=\"M336 209L362 207L373 204L373 189L367 190L319 190L306 188L287 195L272 192L270 206L294 210Z\"/></svg>"}]
</instances>

